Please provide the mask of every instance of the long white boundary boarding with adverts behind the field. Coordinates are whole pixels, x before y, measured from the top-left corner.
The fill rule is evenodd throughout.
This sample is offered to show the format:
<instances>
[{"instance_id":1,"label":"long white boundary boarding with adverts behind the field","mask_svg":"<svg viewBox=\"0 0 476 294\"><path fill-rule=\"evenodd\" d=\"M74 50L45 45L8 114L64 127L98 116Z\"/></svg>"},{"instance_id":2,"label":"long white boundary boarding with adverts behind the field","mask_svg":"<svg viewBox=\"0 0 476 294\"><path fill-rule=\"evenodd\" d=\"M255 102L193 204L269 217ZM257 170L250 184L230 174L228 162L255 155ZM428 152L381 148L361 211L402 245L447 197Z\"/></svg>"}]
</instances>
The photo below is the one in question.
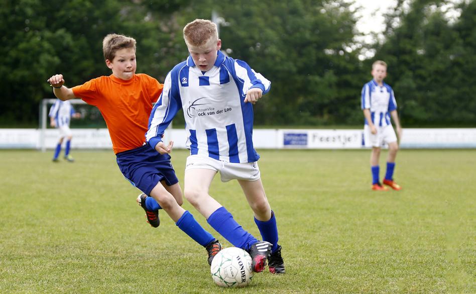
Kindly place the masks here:
<instances>
[{"instance_id":1,"label":"long white boundary boarding with adverts behind the field","mask_svg":"<svg viewBox=\"0 0 476 294\"><path fill-rule=\"evenodd\" d=\"M71 129L75 149L111 149L107 129ZM56 129L0 129L0 149L52 149L56 146ZM184 129L170 129L165 140L174 148L186 148ZM362 130L255 129L257 149L362 149ZM476 148L476 128L471 129L404 129L401 148Z\"/></svg>"}]
</instances>

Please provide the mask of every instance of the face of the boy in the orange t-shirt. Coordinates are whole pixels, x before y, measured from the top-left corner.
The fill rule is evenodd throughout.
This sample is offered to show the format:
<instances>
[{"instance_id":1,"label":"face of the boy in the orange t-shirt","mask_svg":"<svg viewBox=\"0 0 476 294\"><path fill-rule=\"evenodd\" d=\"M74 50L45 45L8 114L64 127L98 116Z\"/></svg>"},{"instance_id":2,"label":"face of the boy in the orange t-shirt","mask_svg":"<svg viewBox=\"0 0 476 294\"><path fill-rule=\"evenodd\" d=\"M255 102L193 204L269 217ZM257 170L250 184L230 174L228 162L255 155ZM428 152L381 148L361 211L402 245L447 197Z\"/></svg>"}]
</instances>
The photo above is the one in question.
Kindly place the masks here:
<instances>
[{"instance_id":1,"label":"face of the boy in the orange t-shirt","mask_svg":"<svg viewBox=\"0 0 476 294\"><path fill-rule=\"evenodd\" d=\"M115 57L110 61L106 59L106 65L112 69L112 74L123 80L130 80L136 73L136 51L134 48L123 48L115 52Z\"/></svg>"}]
</instances>

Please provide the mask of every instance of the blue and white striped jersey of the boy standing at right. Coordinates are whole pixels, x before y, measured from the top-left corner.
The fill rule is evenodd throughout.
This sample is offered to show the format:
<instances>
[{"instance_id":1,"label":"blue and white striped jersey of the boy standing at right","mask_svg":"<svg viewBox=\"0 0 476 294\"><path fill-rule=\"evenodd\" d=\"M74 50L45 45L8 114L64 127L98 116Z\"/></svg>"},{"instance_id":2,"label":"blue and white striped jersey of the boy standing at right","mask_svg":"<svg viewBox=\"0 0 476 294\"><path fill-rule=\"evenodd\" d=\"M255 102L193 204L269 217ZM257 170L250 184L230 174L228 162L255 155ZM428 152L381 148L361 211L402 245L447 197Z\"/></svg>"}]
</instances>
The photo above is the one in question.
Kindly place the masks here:
<instances>
[{"instance_id":1,"label":"blue and white striped jersey of the boy standing at right","mask_svg":"<svg viewBox=\"0 0 476 294\"><path fill-rule=\"evenodd\" d=\"M376 127L390 125L390 112L397 109L392 87L386 83L379 86L375 80L366 83L362 88L361 108L370 109L372 122ZM365 124L369 124L367 119Z\"/></svg>"}]
</instances>

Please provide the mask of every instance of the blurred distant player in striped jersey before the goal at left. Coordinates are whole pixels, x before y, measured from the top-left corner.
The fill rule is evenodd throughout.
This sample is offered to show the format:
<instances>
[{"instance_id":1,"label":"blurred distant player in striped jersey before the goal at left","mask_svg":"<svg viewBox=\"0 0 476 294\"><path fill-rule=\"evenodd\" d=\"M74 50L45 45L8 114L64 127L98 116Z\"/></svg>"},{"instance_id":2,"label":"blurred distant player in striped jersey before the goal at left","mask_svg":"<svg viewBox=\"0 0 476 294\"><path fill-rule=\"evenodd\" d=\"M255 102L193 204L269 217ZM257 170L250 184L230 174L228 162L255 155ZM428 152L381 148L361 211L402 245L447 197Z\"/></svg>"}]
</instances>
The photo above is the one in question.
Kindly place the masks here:
<instances>
[{"instance_id":1,"label":"blurred distant player in striped jersey before the goal at left","mask_svg":"<svg viewBox=\"0 0 476 294\"><path fill-rule=\"evenodd\" d=\"M60 131L58 144L56 144L55 154L53 155L53 162L58 162L58 156L61 152L61 145L63 144L64 138L66 138L64 159L69 162L73 162L74 159L69 154L69 150L71 148L71 139L73 138L73 134L69 128L69 123L71 122L71 117L80 118L81 114L74 111L71 102L57 99L51 106L48 116L50 117L50 126L57 128Z\"/></svg>"}]
</instances>

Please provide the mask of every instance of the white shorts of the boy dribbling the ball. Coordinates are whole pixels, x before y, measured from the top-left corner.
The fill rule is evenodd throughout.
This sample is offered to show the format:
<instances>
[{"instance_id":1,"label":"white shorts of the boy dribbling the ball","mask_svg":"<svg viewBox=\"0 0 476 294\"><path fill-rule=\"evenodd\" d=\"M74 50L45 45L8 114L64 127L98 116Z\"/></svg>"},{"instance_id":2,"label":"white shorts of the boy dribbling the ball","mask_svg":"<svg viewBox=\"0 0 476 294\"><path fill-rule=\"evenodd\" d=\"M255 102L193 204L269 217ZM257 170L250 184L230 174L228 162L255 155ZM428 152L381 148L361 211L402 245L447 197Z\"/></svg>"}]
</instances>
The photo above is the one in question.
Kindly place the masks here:
<instances>
[{"instance_id":1,"label":"white shorts of the boy dribbling the ball","mask_svg":"<svg viewBox=\"0 0 476 294\"><path fill-rule=\"evenodd\" d=\"M258 162L231 163L216 160L203 155L190 155L187 157L185 171L192 168L205 168L220 172L222 182L232 179L256 181L260 178Z\"/></svg>"}]
</instances>

